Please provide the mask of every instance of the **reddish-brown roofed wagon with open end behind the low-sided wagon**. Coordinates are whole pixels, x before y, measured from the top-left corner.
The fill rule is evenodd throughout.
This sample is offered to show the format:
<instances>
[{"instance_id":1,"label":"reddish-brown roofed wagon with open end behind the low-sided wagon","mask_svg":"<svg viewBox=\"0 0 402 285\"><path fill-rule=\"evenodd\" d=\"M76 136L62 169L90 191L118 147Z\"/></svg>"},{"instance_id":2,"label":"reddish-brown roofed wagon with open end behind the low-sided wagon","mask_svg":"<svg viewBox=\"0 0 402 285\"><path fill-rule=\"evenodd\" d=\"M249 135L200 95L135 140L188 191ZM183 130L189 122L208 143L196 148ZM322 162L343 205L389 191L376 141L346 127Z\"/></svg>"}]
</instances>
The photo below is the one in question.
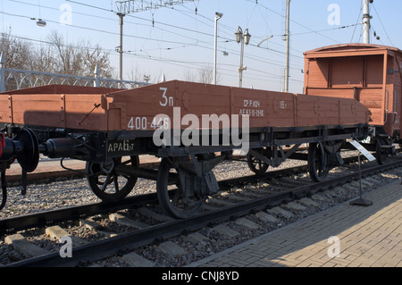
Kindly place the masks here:
<instances>
[{"instance_id":1,"label":"reddish-brown roofed wagon with open end behind the low-sided wagon","mask_svg":"<svg viewBox=\"0 0 402 285\"><path fill-rule=\"evenodd\" d=\"M353 98L372 113L372 141L364 147L386 163L402 146L402 51L392 46L348 44L305 53L306 95Z\"/></svg>"}]
</instances>

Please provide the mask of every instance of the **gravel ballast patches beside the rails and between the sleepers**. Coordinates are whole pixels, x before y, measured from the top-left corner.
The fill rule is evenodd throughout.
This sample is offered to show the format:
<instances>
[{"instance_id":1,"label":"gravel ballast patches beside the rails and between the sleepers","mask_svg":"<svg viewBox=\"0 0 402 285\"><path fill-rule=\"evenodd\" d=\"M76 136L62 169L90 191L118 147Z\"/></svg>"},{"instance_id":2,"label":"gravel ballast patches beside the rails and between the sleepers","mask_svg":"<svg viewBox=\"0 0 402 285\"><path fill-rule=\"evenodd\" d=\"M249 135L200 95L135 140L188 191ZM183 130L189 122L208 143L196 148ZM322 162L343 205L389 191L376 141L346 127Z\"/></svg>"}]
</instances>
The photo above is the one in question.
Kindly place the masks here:
<instances>
[{"instance_id":1,"label":"gravel ballast patches beside the rails and between the sleepers","mask_svg":"<svg viewBox=\"0 0 402 285\"><path fill-rule=\"evenodd\" d=\"M306 162L288 160L282 163L280 168L289 168L292 166L305 165ZM273 170L277 170L275 168ZM270 171L271 168L268 170ZM217 180L231 179L246 175L251 175L247 163L244 162L224 162L219 164L214 169ZM364 179L362 187L364 192L376 189L393 180L400 179L402 171L395 170L385 174L376 174L371 178ZM214 255L230 247L239 245L249 239L258 237L266 232L279 229L291 222L299 221L311 214L317 214L331 206L339 205L359 195L358 181L353 181L345 187L337 187L335 189L324 191L316 197L312 197L310 202L299 200L293 207L290 205L281 205L281 208L288 211L290 216L282 214L272 214L275 220L273 222L263 221L255 214L247 215L247 220L250 220L257 225L257 228L251 229L242 225L239 221L223 222L222 225L236 231L239 235L228 238L218 231L214 231L213 227L206 227L197 231L203 237L204 242L197 242L194 239L188 239L188 236L179 236L163 241L172 241L175 244L186 250L186 254L180 256L171 256L164 253L158 247L159 244L150 244L145 247L139 247L134 250L134 253L147 258L155 266L185 266L192 264L197 260L207 256ZM135 189L130 195L147 194L155 192L155 181L138 179ZM8 191L8 202L4 210L0 212L0 219L13 217L23 214L33 214L40 211L51 210L72 205L84 205L99 202L100 200L88 188L86 179L56 181L49 184L33 184L29 185L28 193L25 197L21 197L21 188L12 187ZM313 203L311 203L313 201ZM305 203L304 203L305 202ZM132 231L130 227L122 226L116 222L106 221L99 218L102 227L108 231L113 231L115 234L121 232ZM99 238L96 230L89 230L86 227L76 225L73 222L64 224L67 231L72 235L81 239L95 240ZM26 231L26 236L32 243L39 247L44 247L54 251L60 248L57 240L51 240L46 237L44 230L35 229ZM123 256L128 253L120 253L116 256L97 261L91 266L105 267L127 267L130 264L125 262ZM12 246L5 245L4 241L0 241L0 264L8 264L13 260L19 260L24 257L13 250Z\"/></svg>"}]
</instances>

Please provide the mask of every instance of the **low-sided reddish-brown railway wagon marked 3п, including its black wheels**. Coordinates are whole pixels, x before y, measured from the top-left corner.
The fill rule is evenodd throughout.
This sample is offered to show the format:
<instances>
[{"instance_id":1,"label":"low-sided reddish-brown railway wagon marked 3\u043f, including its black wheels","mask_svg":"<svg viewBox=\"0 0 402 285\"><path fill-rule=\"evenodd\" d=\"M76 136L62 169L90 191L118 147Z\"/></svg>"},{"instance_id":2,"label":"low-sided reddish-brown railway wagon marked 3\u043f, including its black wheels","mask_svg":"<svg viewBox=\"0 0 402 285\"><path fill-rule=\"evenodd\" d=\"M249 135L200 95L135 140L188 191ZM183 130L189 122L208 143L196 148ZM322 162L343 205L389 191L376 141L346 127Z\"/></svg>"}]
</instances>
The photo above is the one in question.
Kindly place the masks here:
<instances>
[{"instance_id":1,"label":"low-sided reddish-brown railway wagon marked 3\u043f, including its black wheels","mask_svg":"<svg viewBox=\"0 0 402 285\"><path fill-rule=\"evenodd\" d=\"M39 155L87 162L89 187L105 203L126 197L138 177L156 180L167 214L197 212L218 183L213 169L235 149L263 173L309 144L314 180L342 163L347 139L368 134L370 111L353 98L306 96L172 80L129 90L51 85L0 94L3 205L5 171L22 178ZM155 155L157 171L138 155ZM26 185L25 185L26 187Z\"/></svg>"}]
</instances>

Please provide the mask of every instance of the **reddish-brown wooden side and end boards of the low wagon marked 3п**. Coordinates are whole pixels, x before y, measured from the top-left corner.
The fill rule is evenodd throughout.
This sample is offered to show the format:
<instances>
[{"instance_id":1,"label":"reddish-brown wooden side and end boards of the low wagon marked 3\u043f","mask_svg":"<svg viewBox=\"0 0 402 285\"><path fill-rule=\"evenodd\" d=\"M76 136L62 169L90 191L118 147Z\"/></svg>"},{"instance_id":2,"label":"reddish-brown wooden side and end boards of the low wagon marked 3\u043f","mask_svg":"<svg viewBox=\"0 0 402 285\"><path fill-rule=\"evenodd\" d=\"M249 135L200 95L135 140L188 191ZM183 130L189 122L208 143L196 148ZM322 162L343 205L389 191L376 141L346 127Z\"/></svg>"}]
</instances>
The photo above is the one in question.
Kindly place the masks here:
<instances>
[{"instance_id":1,"label":"reddish-brown wooden side and end boards of the low wagon marked 3\u043f","mask_svg":"<svg viewBox=\"0 0 402 285\"><path fill-rule=\"evenodd\" d=\"M350 98L305 96L178 80L130 90L47 86L0 94L0 122L70 130L155 130L157 114L249 116L250 128L366 123L370 113ZM231 117L230 117L231 120ZM200 120L201 122L201 120ZM178 126L178 125L176 125Z\"/></svg>"}]
</instances>

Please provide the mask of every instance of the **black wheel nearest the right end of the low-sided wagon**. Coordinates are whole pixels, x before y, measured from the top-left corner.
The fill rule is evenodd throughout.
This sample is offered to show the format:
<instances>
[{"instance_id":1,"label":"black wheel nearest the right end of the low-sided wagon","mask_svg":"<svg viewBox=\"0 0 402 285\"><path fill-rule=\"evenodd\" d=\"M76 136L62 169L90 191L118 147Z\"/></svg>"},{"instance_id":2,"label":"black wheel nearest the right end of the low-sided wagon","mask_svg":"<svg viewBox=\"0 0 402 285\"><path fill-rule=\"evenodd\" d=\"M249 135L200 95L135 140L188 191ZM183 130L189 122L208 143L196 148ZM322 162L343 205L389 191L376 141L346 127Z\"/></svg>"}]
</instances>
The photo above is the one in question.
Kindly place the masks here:
<instances>
[{"instance_id":1,"label":"black wheel nearest the right end of the low-sided wagon","mask_svg":"<svg viewBox=\"0 0 402 285\"><path fill-rule=\"evenodd\" d=\"M324 157L322 157L322 153ZM323 158L323 159L322 159ZM322 161L324 163L322 163ZM322 182L327 177L330 169L326 167L328 163L328 154L322 151L318 143L311 143L308 147L308 172L315 182Z\"/></svg>"}]
</instances>

